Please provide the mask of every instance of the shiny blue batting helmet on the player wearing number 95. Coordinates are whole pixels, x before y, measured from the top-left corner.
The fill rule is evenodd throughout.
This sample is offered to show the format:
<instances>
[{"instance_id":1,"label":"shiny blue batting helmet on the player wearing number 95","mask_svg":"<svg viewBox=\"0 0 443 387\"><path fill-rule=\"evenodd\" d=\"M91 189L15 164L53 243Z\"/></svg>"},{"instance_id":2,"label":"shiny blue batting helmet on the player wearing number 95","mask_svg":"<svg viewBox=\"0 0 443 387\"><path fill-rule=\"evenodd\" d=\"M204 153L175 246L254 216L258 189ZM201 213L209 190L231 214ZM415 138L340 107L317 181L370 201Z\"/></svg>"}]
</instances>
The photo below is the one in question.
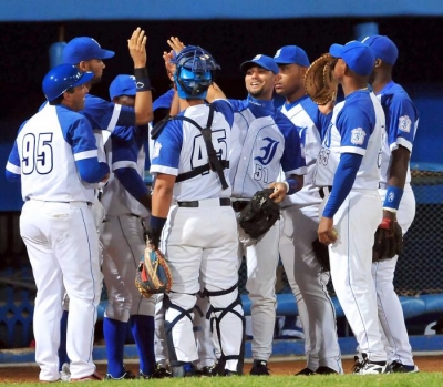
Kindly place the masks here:
<instances>
[{"instance_id":1,"label":"shiny blue batting helmet on the player wearing number 95","mask_svg":"<svg viewBox=\"0 0 443 387\"><path fill-rule=\"evenodd\" d=\"M42 89L48 101L53 101L68 89L89 82L94 74L91 71L80 71L72 64L60 64L51 69L43 78Z\"/></svg>"}]
</instances>

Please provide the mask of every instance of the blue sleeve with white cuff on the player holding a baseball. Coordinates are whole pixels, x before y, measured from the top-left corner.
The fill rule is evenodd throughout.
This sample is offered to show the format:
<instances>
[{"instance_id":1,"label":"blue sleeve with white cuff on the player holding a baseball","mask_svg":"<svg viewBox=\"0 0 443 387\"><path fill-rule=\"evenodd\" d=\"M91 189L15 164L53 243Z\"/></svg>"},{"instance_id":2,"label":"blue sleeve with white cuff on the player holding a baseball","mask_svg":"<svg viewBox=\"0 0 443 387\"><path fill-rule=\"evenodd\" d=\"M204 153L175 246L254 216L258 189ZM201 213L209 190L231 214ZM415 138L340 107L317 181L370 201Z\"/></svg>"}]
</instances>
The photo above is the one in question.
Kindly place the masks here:
<instances>
[{"instance_id":1,"label":"blue sleeve with white cuff on the player holding a baseball","mask_svg":"<svg viewBox=\"0 0 443 387\"><path fill-rule=\"evenodd\" d=\"M337 115L336 126L341 135L340 153L357 153L363 156L374 126L368 111L356 104L348 105Z\"/></svg>"}]
</instances>

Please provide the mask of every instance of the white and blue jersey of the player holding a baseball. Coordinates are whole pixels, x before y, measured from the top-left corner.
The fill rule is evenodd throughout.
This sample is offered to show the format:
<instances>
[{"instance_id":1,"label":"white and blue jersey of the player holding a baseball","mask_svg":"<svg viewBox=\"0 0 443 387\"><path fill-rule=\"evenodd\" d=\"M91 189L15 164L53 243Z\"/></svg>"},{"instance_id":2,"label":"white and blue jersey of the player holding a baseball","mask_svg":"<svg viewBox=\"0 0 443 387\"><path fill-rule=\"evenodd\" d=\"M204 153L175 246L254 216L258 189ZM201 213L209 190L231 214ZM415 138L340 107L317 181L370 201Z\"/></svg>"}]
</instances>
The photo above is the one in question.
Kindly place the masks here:
<instances>
[{"instance_id":1,"label":"white and blue jersey of the player holding a baseball","mask_svg":"<svg viewBox=\"0 0 443 387\"><path fill-rule=\"evenodd\" d=\"M317 159L315 184L332 185L341 153L363 156L352 189L377 190L380 182L384 113L368 90L358 90L333 108L331 122Z\"/></svg>"}]
</instances>

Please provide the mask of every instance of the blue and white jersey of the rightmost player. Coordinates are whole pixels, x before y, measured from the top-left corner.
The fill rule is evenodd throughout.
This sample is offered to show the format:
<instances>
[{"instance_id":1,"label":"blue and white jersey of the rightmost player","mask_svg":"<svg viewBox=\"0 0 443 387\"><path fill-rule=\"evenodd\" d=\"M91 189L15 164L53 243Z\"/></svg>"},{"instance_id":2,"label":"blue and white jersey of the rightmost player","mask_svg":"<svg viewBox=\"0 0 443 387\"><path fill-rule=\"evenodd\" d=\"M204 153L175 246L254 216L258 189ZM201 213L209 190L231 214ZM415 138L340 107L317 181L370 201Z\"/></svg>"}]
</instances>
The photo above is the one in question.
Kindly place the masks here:
<instances>
[{"instance_id":1,"label":"blue and white jersey of the rightmost player","mask_svg":"<svg viewBox=\"0 0 443 387\"><path fill-rule=\"evenodd\" d=\"M377 98L383 106L387 118L387 133L383 141L381 157L381 183L388 183L391 152L399 145L412 152L416 129L419 126L419 111L405 90L393 81L389 82ZM411 182L411 172L408 167L406 183Z\"/></svg>"}]
</instances>

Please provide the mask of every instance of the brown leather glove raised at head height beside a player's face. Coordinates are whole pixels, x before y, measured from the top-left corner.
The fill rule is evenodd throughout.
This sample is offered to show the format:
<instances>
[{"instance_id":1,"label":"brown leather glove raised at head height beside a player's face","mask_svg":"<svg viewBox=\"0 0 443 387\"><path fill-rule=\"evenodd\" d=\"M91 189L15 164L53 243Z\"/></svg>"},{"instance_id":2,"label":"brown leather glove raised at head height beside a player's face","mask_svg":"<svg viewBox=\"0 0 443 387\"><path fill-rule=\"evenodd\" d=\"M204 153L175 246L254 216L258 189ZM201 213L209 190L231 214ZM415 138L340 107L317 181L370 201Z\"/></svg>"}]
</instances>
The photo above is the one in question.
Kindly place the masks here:
<instances>
[{"instance_id":1,"label":"brown leather glove raised at head height beside a player's face","mask_svg":"<svg viewBox=\"0 0 443 387\"><path fill-rule=\"evenodd\" d=\"M330 64L334 59L329 53L322 54L313 61L305 73L305 90L318 105L334 101L337 96L337 81L332 78Z\"/></svg>"}]
</instances>

